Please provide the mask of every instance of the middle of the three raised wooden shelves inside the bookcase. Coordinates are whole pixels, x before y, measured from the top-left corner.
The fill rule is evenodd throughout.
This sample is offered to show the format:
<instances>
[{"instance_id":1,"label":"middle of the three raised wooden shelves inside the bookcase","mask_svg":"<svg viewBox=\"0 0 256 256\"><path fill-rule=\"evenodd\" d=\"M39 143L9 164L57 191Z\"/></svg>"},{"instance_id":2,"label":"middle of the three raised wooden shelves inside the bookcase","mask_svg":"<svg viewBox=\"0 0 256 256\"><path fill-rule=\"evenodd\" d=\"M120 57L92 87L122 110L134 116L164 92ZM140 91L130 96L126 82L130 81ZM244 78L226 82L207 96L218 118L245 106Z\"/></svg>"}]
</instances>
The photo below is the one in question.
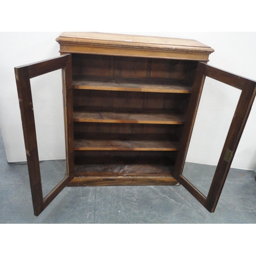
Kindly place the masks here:
<instances>
[{"instance_id":1,"label":"middle of the three raised wooden shelves inside the bookcase","mask_svg":"<svg viewBox=\"0 0 256 256\"><path fill-rule=\"evenodd\" d=\"M76 108L75 122L184 124L185 115L174 110L112 110Z\"/></svg>"}]
</instances>

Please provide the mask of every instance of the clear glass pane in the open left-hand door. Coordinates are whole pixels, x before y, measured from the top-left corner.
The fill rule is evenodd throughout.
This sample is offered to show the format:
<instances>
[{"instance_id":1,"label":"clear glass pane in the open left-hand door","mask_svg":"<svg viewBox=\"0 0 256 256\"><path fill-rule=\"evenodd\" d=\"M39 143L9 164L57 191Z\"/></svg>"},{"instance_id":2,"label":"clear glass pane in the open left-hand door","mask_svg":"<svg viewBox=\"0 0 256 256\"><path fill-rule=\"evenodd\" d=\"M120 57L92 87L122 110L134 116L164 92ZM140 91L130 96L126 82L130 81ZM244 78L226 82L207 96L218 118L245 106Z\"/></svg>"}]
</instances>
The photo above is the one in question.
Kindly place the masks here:
<instances>
[{"instance_id":1,"label":"clear glass pane in the open left-hand door","mask_svg":"<svg viewBox=\"0 0 256 256\"><path fill-rule=\"evenodd\" d=\"M30 79L42 193L67 176L61 69Z\"/></svg>"}]
</instances>

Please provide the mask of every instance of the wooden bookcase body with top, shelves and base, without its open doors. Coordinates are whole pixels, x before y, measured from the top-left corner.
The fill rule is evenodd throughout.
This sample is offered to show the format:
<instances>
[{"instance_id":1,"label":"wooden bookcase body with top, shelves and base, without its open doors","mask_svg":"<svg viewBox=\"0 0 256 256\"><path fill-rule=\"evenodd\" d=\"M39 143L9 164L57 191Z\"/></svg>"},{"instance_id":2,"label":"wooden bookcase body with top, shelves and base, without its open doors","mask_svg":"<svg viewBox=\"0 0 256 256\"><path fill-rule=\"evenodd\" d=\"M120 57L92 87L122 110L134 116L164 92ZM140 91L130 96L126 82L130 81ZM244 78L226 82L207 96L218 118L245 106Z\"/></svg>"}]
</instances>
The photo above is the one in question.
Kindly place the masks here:
<instances>
[{"instance_id":1,"label":"wooden bookcase body with top, shelves and base, without its open doors","mask_svg":"<svg viewBox=\"0 0 256 256\"><path fill-rule=\"evenodd\" d=\"M170 40L179 52L165 49ZM213 50L194 40L104 33L63 33L57 41L61 54L72 54L69 185L178 184L173 172L197 63ZM189 44L193 53L185 52Z\"/></svg>"}]
</instances>

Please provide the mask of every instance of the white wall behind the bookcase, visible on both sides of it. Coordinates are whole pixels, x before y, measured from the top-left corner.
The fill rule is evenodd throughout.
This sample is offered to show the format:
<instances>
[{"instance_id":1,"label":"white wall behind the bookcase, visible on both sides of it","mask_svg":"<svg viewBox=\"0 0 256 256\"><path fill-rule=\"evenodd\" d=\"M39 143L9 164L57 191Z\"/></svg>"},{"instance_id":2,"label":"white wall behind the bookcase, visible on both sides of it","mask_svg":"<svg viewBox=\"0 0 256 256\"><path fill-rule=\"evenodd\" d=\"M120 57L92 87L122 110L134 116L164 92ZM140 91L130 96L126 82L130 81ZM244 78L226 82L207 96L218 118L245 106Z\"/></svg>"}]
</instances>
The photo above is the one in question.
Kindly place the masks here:
<instances>
[{"instance_id":1,"label":"white wall behind the bookcase, visible on both sides of it","mask_svg":"<svg viewBox=\"0 0 256 256\"><path fill-rule=\"evenodd\" d=\"M61 32L4 32L0 33L0 49L3 49L1 54L1 69L0 69L0 127L2 130L4 143L6 147L7 158L9 162L25 161L25 149L22 134L22 124L20 121L18 97L16 92L16 84L14 79L13 67L35 62L38 60L58 56L59 46L55 38ZM116 32L122 33L122 32ZM123 32L129 34L154 35L196 39L203 44L215 49L215 52L210 55L209 65L227 70L232 73L245 76L256 80L254 60L256 59L256 33L255 32ZM218 86L218 82L215 83ZM210 83L209 83L210 85ZM211 89L210 89L211 90ZM47 96L47 92L43 92L42 98ZM208 117L209 108L213 111L212 122L217 128L220 123L218 114L215 112L216 105L223 105L223 102L229 100L230 105L234 103L233 94L229 90L222 90L219 94L215 94L216 101L209 104L212 91L206 91L206 99L200 105L199 117L197 121L195 132L193 133L193 140L191 141L191 150L187 156L187 161L215 165L218 153L219 135L213 136L212 131L216 129L204 129L206 134L203 142L202 131L200 127L204 127ZM208 95L208 96L207 96ZM231 98L230 98L231 95ZM208 98L207 98L208 97ZM216 105L215 105L216 103ZM225 107L225 109L229 104ZM220 111L222 109L218 108ZM227 116L232 115L228 110ZM57 110L57 115L61 115L61 110ZM231 114L230 114L231 113ZM53 116L56 113L52 113ZM54 119L54 118L53 118ZM226 118L224 118L226 119ZM210 125L209 127L212 127ZM256 164L256 103L253 104L250 117L245 127L240 145L236 156L234 157L232 167L241 169L253 169ZM44 130L44 128L42 128ZM54 138L54 134L52 135ZM195 136L195 137L194 137ZM56 151L59 153L55 158L60 159L63 155L61 150L62 142L55 141L57 144ZM217 143L216 143L217 142ZM44 146L44 139L40 142L42 148ZM209 148L204 148L206 144L212 145ZM58 150L59 148L59 150ZM43 150L42 150L43 151ZM45 151L47 153L47 150ZM49 158L49 156L42 156L42 158Z\"/></svg>"}]
</instances>

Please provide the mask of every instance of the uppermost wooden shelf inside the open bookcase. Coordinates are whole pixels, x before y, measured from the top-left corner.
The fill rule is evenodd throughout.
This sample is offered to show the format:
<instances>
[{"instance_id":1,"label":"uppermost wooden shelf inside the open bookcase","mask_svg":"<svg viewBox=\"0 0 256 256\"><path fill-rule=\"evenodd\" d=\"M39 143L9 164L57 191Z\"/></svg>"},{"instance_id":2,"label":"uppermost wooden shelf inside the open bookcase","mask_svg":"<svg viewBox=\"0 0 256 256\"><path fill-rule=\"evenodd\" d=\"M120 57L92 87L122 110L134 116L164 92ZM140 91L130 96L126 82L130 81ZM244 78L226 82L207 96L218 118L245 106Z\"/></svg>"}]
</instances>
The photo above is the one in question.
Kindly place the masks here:
<instances>
[{"instance_id":1,"label":"uppermost wooden shelf inside the open bookcase","mask_svg":"<svg viewBox=\"0 0 256 256\"><path fill-rule=\"evenodd\" d=\"M121 78L73 75L73 88L82 90L191 93L191 86L182 80Z\"/></svg>"}]
</instances>

